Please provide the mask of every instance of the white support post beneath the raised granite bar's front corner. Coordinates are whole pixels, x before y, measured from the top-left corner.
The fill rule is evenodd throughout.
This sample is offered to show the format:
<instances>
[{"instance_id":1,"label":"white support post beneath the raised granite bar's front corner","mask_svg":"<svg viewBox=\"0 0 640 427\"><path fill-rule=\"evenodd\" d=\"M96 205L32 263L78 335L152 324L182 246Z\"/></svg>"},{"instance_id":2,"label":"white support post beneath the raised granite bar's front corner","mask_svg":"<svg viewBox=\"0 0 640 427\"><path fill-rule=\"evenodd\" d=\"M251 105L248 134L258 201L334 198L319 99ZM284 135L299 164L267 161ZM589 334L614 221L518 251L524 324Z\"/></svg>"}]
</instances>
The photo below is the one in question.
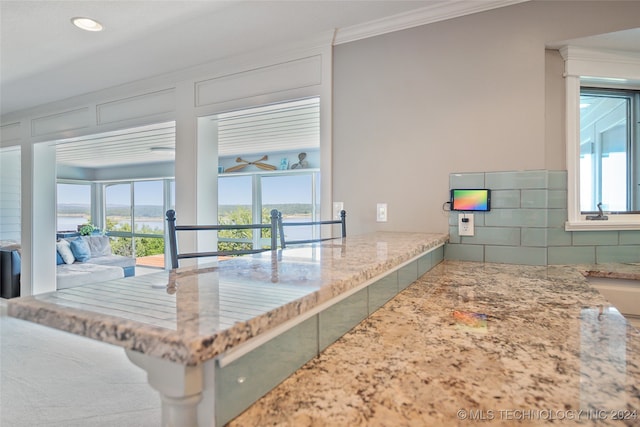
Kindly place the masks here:
<instances>
[{"instance_id":1,"label":"white support post beneath the raised granite bar's front corner","mask_svg":"<svg viewBox=\"0 0 640 427\"><path fill-rule=\"evenodd\" d=\"M198 404L204 390L202 365L186 366L147 356L133 350L125 353L134 365L147 372L149 385L160 393L162 427L198 427ZM213 405L213 402L212 402ZM212 426L213 421L207 422Z\"/></svg>"}]
</instances>

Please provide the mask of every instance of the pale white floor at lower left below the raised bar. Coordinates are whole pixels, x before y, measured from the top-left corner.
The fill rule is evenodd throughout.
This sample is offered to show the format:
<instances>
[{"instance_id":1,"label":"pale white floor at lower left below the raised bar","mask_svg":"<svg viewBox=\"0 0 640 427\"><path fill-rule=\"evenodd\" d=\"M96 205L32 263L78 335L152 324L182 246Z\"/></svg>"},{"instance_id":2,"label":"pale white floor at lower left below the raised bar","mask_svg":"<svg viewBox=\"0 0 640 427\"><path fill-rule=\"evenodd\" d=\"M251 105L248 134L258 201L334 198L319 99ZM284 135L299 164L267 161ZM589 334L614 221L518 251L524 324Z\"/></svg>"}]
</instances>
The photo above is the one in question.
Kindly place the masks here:
<instances>
[{"instance_id":1,"label":"pale white floor at lower left below the raised bar","mask_svg":"<svg viewBox=\"0 0 640 427\"><path fill-rule=\"evenodd\" d=\"M157 427L160 397L120 347L6 316L0 426Z\"/></svg>"}]
</instances>

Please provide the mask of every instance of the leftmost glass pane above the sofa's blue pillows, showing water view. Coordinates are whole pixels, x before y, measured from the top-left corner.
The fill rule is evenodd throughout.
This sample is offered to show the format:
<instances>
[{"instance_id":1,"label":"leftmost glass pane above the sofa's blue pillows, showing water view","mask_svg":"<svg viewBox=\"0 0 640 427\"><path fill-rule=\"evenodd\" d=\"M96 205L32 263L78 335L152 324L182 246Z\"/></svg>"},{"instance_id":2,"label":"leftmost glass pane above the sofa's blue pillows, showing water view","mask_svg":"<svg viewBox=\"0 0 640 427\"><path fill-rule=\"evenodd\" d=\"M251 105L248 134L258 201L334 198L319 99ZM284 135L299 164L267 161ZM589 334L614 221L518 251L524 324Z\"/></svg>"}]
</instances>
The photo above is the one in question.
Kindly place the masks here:
<instances>
[{"instance_id":1,"label":"leftmost glass pane above the sofa's blue pillows, showing water view","mask_svg":"<svg viewBox=\"0 0 640 427\"><path fill-rule=\"evenodd\" d=\"M78 231L78 226L91 223L91 185L57 184L56 200L58 231Z\"/></svg>"}]
</instances>

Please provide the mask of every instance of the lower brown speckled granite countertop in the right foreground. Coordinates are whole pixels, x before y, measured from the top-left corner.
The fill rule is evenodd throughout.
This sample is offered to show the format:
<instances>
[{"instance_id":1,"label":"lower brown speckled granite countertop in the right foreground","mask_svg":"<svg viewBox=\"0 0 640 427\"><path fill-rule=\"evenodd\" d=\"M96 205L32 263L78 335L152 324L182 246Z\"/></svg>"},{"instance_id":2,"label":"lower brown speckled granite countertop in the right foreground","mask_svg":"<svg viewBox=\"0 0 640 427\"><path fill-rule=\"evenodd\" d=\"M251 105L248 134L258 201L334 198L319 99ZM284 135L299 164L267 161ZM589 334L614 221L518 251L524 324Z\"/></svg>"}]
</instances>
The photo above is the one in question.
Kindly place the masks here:
<instances>
[{"instance_id":1,"label":"lower brown speckled granite countertop in the right foreground","mask_svg":"<svg viewBox=\"0 0 640 427\"><path fill-rule=\"evenodd\" d=\"M640 333L584 271L445 261L229 426L638 426Z\"/></svg>"}]
</instances>

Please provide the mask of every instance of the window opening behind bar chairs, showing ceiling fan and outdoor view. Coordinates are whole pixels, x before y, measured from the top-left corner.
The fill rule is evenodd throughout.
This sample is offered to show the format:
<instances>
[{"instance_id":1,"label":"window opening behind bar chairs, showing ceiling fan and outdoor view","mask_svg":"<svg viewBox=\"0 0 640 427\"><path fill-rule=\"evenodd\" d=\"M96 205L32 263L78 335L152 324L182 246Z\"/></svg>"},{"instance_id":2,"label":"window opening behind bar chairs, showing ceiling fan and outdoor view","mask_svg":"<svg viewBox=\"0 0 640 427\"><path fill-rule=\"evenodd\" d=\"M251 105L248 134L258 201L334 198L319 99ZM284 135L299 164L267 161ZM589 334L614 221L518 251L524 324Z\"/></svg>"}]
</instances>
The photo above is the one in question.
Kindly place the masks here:
<instances>
[{"instance_id":1,"label":"window opening behind bar chairs, showing ceiling fan and outdoor view","mask_svg":"<svg viewBox=\"0 0 640 427\"><path fill-rule=\"evenodd\" d=\"M218 222L269 223L320 219L320 99L263 105L211 119L218 138ZM318 237L316 227L290 227L294 239ZM264 248L270 231L218 233L218 249Z\"/></svg>"}]
</instances>

